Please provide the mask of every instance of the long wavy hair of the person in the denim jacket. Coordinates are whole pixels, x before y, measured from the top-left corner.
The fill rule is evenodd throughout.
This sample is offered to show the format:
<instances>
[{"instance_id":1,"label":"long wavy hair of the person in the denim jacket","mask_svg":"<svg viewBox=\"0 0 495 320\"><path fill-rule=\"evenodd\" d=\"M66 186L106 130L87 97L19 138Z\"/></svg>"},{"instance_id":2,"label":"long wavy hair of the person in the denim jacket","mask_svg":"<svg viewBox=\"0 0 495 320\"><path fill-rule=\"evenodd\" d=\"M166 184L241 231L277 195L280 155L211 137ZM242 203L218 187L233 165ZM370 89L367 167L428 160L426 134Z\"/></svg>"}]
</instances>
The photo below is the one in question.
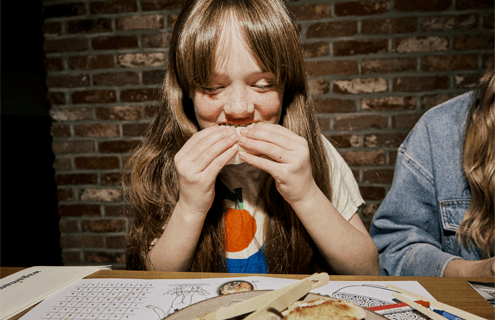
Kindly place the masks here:
<instances>
[{"instance_id":1,"label":"long wavy hair of the person in the denim jacket","mask_svg":"<svg viewBox=\"0 0 495 320\"><path fill-rule=\"evenodd\" d=\"M484 257L495 247L495 74L493 62L480 79L468 114L462 166L471 191L471 204L457 237Z\"/></svg>"}]
</instances>

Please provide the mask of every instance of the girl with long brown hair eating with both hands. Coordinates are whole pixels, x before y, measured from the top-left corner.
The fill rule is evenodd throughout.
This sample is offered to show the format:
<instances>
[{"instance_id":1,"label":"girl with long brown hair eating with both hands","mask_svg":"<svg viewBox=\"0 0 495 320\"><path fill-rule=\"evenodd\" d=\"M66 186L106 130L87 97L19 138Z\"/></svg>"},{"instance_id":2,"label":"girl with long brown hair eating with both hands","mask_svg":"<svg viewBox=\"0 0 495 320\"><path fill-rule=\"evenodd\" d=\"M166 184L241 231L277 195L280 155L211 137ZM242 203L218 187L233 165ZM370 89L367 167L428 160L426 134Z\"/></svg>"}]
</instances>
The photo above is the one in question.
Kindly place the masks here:
<instances>
[{"instance_id":1,"label":"girl with long brown hair eating with both hands","mask_svg":"<svg viewBox=\"0 0 495 320\"><path fill-rule=\"evenodd\" d=\"M320 133L281 1L187 1L163 92L124 183L129 267L378 273L355 214L363 200ZM236 155L244 163L228 164Z\"/></svg>"}]
</instances>

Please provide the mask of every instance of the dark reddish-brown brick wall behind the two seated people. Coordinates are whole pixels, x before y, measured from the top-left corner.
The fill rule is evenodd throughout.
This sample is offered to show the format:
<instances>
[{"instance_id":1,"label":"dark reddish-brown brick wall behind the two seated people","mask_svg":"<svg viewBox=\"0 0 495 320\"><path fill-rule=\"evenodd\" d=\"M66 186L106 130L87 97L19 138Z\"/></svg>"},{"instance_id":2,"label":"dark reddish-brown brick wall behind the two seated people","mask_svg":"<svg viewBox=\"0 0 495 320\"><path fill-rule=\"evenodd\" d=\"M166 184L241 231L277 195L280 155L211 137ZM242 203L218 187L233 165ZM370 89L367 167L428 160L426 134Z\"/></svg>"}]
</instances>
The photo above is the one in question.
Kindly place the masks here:
<instances>
[{"instance_id":1,"label":"dark reddish-brown brick wall behind the two seated people","mask_svg":"<svg viewBox=\"0 0 495 320\"><path fill-rule=\"evenodd\" d=\"M351 166L367 225L396 149L427 109L493 59L492 0L288 1L318 119ZM65 265L124 268L123 164L158 105L180 0L44 1Z\"/></svg>"}]
</instances>

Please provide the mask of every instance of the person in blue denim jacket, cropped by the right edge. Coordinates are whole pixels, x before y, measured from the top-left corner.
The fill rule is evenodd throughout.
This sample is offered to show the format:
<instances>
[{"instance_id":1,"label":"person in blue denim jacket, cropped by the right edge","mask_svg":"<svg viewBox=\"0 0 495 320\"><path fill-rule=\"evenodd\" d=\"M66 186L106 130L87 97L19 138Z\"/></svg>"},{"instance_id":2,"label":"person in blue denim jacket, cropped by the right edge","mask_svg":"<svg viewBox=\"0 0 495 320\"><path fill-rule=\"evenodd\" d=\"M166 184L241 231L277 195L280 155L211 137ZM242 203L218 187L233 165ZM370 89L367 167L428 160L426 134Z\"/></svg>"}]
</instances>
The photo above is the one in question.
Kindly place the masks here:
<instances>
[{"instance_id":1,"label":"person in blue denim jacket, cropped by the right edge","mask_svg":"<svg viewBox=\"0 0 495 320\"><path fill-rule=\"evenodd\" d=\"M495 276L494 90L492 64L479 91L426 112L399 147L370 229L381 275Z\"/></svg>"}]
</instances>

